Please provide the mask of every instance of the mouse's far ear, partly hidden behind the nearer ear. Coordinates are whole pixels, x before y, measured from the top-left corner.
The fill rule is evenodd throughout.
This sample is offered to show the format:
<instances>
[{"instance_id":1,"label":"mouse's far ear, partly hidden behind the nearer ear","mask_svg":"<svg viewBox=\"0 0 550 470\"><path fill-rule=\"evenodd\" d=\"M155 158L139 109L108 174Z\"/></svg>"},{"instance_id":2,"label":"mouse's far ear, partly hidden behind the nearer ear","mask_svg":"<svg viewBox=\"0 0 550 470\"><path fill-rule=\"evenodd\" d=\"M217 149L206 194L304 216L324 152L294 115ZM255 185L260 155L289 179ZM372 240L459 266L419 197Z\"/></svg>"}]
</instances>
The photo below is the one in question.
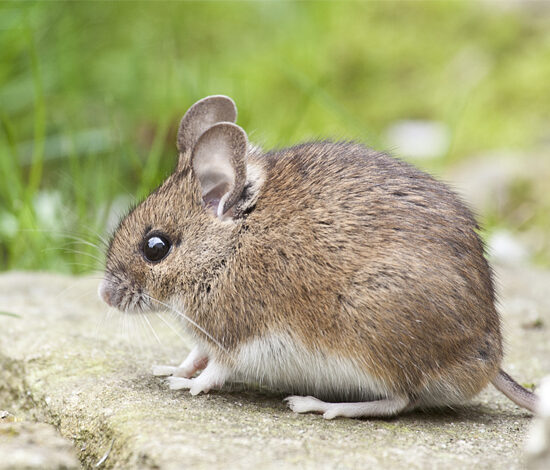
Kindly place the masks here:
<instances>
[{"instance_id":1,"label":"mouse's far ear, partly hidden behind the nearer ear","mask_svg":"<svg viewBox=\"0 0 550 470\"><path fill-rule=\"evenodd\" d=\"M180 122L177 140L179 153L184 154L191 150L202 133L214 124L236 120L237 107L228 96L213 95L197 101Z\"/></svg>"}]
</instances>

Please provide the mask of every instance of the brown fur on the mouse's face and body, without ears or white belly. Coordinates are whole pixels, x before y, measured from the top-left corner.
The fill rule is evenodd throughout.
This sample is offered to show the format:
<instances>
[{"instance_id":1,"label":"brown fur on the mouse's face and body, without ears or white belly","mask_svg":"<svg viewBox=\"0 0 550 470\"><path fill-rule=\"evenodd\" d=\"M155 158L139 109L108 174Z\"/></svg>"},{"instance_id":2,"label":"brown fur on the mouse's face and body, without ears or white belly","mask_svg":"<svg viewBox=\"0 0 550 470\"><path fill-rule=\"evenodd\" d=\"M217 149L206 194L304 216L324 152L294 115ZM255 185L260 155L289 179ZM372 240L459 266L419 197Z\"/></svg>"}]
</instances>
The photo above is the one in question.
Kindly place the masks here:
<instances>
[{"instance_id":1,"label":"brown fur on the mouse's face and body, without ears or white belly","mask_svg":"<svg viewBox=\"0 0 550 470\"><path fill-rule=\"evenodd\" d=\"M107 278L180 299L227 364L244 342L286 332L355 359L413 402L469 398L496 376L491 272L471 213L445 185L354 143L252 152L248 163L265 173L255 206L237 203L220 221L183 154L120 224ZM141 254L152 231L175 241L158 264Z\"/></svg>"}]
</instances>

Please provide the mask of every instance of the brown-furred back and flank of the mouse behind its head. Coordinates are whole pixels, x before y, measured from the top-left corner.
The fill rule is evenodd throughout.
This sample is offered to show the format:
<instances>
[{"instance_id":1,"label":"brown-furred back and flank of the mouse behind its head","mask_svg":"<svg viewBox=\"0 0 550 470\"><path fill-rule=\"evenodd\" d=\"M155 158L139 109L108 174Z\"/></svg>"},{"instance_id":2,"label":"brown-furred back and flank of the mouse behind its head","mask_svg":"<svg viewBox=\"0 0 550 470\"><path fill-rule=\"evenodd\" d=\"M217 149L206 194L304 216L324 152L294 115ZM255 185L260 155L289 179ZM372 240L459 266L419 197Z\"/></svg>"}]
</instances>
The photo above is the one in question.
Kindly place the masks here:
<instances>
[{"instance_id":1,"label":"brown-furred back and flank of the mouse behind its head","mask_svg":"<svg viewBox=\"0 0 550 470\"><path fill-rule=\"evenodd\" d=\"M499 317L476 223L452 191L353 143L249 158L265 181L216 304L203 305L223 310L237 350L263 337L267 349L345 357L426 404L487 384L502 356Z\"/></svg>"}]
</instances>

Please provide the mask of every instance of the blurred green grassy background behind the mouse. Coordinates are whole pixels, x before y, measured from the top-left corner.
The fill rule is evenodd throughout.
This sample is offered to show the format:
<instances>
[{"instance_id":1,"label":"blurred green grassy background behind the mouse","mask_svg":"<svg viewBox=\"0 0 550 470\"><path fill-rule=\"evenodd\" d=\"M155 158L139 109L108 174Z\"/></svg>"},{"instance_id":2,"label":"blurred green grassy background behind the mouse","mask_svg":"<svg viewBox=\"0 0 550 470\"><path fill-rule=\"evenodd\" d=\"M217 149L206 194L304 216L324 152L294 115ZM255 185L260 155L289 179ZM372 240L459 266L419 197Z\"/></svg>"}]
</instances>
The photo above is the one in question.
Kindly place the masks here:
<instances>
[{"instance_id":1,"label":"blurred green grassy background behind the mouse","mask_svg":"<svg viewBox=\"0 0 550 470\"><path fill-rule=\"evenodd\" d=\"M185 110L218 93L266 148L352 138L413 161L505 255L550 264L547 2L3 2L0 268L99 268Z\"/></svg>"}]
</instances>

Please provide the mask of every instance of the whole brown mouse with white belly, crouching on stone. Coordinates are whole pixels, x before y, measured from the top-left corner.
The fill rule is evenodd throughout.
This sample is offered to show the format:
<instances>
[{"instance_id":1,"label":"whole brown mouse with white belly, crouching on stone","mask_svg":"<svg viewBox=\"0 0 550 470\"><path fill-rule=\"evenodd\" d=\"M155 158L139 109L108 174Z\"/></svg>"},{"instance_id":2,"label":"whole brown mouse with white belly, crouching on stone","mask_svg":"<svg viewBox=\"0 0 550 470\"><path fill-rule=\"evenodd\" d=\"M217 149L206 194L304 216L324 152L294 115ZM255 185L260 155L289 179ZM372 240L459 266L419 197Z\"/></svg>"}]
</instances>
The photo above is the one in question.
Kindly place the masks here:
<instances>
[{"instance_id":1,"label":"whole brown mouse with white belly, crouching on stone","mask_svg":"<svg viewBox=\"0 0 550 470\"><path fill-rule=\"evenodd\" d=\"M173 173L122 218L100 297L170 310L194 347L155 366L191 395L239 381L296 413L387 417L461 404L502 369L494 281L468 207L444 183L352 141L265 151L234 101L185 113Z\"/></svg>"}]
</instances>

